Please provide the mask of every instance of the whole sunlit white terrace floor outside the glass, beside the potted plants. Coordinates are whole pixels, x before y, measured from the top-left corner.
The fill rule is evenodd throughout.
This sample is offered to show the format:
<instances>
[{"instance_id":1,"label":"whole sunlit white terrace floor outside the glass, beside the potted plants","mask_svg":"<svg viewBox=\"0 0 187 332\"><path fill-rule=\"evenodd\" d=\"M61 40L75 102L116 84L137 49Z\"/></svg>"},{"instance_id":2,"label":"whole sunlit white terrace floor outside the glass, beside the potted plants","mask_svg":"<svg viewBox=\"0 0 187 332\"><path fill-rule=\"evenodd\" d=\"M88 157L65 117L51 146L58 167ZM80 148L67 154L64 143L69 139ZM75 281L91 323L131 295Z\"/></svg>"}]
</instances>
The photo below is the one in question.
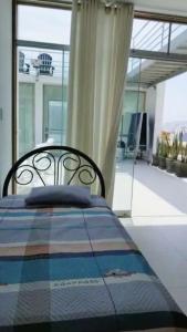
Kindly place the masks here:
<instances>
[{"instance_id":1,"label":"whole sunlit white terrace floor outside the glass, beside the potted plants","mask_svg":"<svg viewBox=\"0 0 187 332\"><path fill-rule=\"evenodd\" d=\"M178 178L147 163L116 165L113 209L133 216L186 216L187 178Z\"/></svg>"}]
</instances>

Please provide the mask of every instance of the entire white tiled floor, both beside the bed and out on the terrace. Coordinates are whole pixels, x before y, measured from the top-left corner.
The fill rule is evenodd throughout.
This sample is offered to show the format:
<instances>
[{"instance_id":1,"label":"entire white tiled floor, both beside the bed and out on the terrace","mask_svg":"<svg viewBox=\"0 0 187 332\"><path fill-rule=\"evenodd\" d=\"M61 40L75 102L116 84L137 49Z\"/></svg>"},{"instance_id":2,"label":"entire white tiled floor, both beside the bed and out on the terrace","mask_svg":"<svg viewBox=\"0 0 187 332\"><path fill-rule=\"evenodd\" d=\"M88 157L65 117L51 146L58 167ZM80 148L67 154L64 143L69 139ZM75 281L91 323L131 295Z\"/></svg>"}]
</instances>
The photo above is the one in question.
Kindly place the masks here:
<instances>
[{"instance_id":1,"label":"entire white tiled floor, both beside the bed and out on the terrace","mask_svg":"<svg viewBox=\"0 0 187 332\"><path fill-rule=\"evenodd\" d=\"M187 314L187 179L137 162L121 163L114 208L129 209L122 219L135 243Z\"/></svg>"}]
</instances>

